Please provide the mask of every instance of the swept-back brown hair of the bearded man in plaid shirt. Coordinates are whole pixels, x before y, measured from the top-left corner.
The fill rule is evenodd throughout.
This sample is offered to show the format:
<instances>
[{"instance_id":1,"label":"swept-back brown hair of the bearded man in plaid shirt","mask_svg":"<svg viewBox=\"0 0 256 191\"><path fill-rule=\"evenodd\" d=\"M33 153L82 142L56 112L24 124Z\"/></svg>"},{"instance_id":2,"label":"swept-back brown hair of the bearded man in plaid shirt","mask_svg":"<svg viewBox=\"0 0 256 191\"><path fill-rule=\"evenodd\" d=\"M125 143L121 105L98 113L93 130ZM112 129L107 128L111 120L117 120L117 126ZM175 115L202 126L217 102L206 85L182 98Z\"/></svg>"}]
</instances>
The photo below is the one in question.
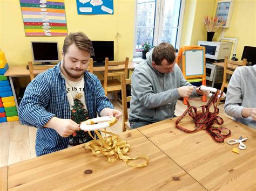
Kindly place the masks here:
<instances>
[{"instance_id":1,"label":"swept-back brown hair of the bearded man in plaid shirt","mask_svg":"<svg viewBox=\"0 0 256 191\"><path fill-rule=\"evenodd\" d=\"M75 45L84 51L90 52L91 56L94 55L94 49L92 47L91 40L83 32L74 32L66 36L63 44L63 53L65 54L68 51L70 45L75 43Z\"/></svg>"}]
</instances>

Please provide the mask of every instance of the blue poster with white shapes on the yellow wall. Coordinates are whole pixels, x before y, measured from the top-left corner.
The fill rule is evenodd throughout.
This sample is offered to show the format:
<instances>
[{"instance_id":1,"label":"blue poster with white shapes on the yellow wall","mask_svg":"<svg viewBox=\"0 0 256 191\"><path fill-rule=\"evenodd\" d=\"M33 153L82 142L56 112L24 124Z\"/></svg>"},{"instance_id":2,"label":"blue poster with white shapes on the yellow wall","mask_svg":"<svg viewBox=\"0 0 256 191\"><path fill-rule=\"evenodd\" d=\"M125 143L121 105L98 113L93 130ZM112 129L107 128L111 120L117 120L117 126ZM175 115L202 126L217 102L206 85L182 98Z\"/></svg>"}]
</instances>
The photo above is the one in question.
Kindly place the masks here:
<instances>
[{"instance_id":1,"label":"blue poster with white shapes on the yellow wall","mask_svg":"<svg viewBox=\"0 0 256 191\"><path fill-rule=\"evenodd\" d=\"M79 15L113 15L113 0L77 0Z\"/></svg>"}]
</instances>

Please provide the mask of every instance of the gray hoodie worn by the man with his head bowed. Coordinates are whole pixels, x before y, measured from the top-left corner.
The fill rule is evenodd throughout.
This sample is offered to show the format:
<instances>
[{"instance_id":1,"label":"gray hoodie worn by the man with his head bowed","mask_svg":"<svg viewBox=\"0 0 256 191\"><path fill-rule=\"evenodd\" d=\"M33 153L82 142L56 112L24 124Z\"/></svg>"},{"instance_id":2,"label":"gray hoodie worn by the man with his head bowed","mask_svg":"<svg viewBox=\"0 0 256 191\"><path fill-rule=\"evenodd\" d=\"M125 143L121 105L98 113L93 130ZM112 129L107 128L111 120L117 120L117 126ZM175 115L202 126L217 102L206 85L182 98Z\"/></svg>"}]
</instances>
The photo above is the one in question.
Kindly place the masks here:
<instances>
[{"instance_id":1,"label":"gray hoodie worn by the man with his head bowed","mask_svg":"<svg viewBox=\"0 0 256 191\"><path fill-rule=\"evenodd\" d=\"M134 70L131 81L132 99L130 102L129 121L158 122L172 118L181 86L192 86L188 83L179 66L169 74L158 72L152 67L152 51L146 54L147 60L142 61ZM194 90L193 96L197 96Z\"/></svg>"}]
</instances>

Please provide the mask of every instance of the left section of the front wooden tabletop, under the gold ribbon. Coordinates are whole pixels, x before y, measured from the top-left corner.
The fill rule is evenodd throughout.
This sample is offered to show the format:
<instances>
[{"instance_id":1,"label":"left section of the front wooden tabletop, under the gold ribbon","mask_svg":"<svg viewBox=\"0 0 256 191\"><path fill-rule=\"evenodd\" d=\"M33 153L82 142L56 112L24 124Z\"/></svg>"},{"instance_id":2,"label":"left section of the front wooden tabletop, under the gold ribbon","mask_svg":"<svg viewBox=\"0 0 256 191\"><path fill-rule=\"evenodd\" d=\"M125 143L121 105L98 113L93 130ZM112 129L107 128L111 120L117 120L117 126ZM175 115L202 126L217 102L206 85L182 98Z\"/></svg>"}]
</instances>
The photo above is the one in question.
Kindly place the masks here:
<instances>
[{"instance_id":1,"label":"left section of the front wooden tabletop, under the gold ribbon","mask_svg":"<svg viewBox=\"0 0 256 191\"><path fill-rule=\"evenodd\" d=\"M94 157L90 150L78 145L10 165L8 188L206 190L138 130L123 132L120 137L131 145L132 157L145 154L149 165L134 168L122 160L109 163L105 156ZM87 169L92 173L85 174Z\"/></svg>"}]
</instances>

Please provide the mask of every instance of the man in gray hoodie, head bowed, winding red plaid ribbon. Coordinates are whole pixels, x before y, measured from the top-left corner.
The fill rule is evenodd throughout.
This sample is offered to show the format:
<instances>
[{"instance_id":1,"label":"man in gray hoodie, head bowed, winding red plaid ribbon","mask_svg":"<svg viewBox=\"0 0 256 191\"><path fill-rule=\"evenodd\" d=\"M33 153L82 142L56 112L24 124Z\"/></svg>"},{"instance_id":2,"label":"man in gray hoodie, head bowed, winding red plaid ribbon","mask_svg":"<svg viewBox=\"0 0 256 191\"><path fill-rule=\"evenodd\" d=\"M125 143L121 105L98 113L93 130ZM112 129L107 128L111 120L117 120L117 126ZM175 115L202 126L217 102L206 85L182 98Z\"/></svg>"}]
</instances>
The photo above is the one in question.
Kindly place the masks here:
<instances>
[{"instance_id":1,"label":"man in gray hoodie, head bowed, winding red plaid ribbon","mask_svg":"<svg viewBox=\"0 0 256 191\"><path fill-rule=\"evenodd\" d=\"M159 44L146 57L131 77L131 129L172 118L180 97L208 94L185 80L171 44Z\"/></svg>"}]
</instances>

